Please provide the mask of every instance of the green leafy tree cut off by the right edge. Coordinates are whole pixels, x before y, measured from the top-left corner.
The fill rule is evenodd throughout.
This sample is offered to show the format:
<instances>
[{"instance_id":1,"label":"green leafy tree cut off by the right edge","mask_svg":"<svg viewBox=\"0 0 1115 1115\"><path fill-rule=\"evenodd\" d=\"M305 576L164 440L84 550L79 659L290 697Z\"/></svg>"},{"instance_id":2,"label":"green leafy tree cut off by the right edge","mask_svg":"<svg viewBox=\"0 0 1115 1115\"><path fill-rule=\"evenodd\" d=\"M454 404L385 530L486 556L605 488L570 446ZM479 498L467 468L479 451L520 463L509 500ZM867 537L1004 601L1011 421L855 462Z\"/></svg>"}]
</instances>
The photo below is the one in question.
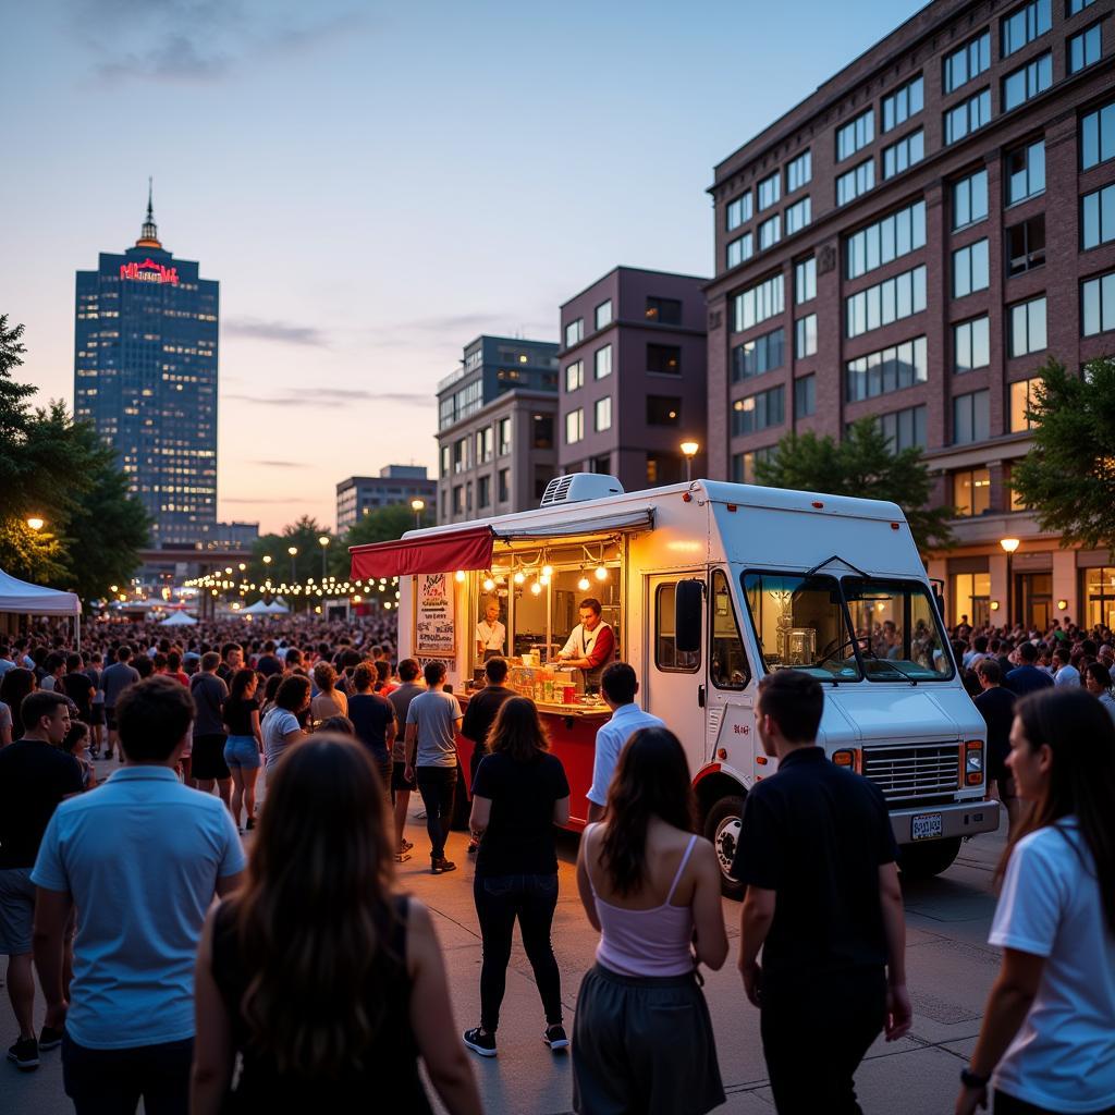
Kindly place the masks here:
<instances>
[{"instance_id":1,"label":"green leafy tree cut off by the right edge","mask_svg":"<svg viewBox=\"0 0 1115 1115\"><path fill-rule=\"evenodd\" d=\"M1083 377L1050 357L1038 374L1034 444L1011 486L1063 546L1115 549L1115 357L1090 360Z\"/></svg>"}]
</instances>

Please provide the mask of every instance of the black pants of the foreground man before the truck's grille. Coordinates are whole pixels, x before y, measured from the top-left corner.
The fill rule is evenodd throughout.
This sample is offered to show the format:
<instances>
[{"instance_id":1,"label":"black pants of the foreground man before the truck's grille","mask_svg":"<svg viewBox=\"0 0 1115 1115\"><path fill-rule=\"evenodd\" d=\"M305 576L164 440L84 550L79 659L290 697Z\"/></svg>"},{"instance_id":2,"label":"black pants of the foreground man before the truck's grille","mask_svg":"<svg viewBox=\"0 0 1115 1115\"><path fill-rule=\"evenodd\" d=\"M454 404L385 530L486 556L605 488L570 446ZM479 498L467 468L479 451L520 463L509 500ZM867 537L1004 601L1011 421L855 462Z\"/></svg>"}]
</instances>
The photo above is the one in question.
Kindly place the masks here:
<instances>
[{"instance_id":1,"label":"black pants of the foreground man before the truck's grille","mask_svg":"<svg viewBox=\"0 0 1115 1115\"><path fill-rule=\"evenodd\" d=\"M778 1115L862 1115L853 1076L886 1016L886 976L862 969L763 983L759 1030Z\"/></svg>"}]
</instances>

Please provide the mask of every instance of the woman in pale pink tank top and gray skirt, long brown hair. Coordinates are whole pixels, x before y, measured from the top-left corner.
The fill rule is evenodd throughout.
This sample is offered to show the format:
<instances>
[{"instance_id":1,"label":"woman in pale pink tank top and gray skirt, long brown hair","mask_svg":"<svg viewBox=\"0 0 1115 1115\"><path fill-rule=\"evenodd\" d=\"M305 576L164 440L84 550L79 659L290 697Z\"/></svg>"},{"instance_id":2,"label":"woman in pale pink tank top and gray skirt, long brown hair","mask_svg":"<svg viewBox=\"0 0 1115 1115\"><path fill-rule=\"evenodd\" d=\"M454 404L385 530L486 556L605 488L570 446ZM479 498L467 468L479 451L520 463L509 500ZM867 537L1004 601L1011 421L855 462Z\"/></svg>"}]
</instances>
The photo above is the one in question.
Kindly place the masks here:
<instances>
[{"instance_id":1,"label":"woman in pale pink tank top and gray skirt, long brown hair","mask_svg":"<svg viewBox=\"0 0 1115 1115\"><path fill-rule=\"evenodd\" d=\"M724 1103L696 970L720 968L728 938L720 869L694 834L695 815L678 737L640 729L576 860L581 902L600 932L573 1032L573 1107L584 1115L700 1115Z\"/></svg>"}]
</instances>

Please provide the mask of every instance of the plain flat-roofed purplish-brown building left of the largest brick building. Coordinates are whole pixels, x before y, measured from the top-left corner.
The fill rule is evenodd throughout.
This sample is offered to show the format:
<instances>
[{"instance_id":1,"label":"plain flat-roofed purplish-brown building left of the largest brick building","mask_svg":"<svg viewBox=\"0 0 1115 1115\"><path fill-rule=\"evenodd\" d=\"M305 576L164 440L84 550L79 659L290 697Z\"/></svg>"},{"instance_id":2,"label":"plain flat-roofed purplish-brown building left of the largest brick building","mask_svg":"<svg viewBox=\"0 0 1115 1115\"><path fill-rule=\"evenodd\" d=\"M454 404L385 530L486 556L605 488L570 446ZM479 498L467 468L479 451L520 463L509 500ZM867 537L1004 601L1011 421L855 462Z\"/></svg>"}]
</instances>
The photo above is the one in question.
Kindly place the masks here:
<instances>
[{"instance_id":1,"label":"plain flat-roofed purplish-brown building left of the largest brick building","mask_svg":"<svg viewBox=\"0 0 1115 1115\"><path fill-rule=\"evenodd\" d=\"M705 472L704 279L615 268L561 308L562 473L617 476L628 492Z\"/></svg>"}]
</instances>

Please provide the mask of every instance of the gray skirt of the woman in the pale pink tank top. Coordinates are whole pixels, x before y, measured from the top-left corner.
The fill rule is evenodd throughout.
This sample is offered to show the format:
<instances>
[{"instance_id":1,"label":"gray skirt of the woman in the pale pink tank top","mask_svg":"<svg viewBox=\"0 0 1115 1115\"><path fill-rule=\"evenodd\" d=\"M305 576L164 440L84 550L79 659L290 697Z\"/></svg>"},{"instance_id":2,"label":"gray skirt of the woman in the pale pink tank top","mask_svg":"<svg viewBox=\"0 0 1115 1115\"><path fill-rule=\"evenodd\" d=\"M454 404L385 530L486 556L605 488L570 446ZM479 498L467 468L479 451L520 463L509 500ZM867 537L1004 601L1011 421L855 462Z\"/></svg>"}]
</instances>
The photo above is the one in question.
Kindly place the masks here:
<instances>
[{"instance_id":1,"label":"gray skirt of the woman in the pale pink tank top","mask_svg":"<svg viewBox=\"0 0 1115 1115\"><path fill-rule=\"evenodd\" d=\"M589 970L573 1021L574 1111L704 1115L724 1102L712 1021L692 975Z\"/></svg>"}]
</instances>

